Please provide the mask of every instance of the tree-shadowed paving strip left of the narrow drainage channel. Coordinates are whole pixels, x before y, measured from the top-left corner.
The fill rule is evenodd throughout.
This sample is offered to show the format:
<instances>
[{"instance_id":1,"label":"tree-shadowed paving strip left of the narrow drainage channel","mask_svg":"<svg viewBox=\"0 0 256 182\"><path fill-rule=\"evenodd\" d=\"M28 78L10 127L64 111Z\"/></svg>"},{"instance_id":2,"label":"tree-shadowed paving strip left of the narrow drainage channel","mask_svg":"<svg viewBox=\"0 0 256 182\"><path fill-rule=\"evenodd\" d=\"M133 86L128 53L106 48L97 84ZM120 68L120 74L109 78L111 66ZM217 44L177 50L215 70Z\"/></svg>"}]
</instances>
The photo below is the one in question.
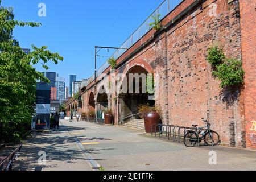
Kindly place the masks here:
<instances>
[{"instance_id":1,"label":"tree-shadowed paving strip left of the narrow drainage channel","mask_svg":"<svg viewBox=\"0 0 256 182\"><path fill-rule=\"evenodd\" d=\"M40 164L38 160L44 152L46 163ZM59 131L36 133L35 138L28 139L23 144L18 160L14 161L14 170L91 170L86 162L88 159L82 153L75 139L69 135L65 126L61 125ZM40 158L39 162L44 162L43 158Z\"/></svg>"}]
</instances>

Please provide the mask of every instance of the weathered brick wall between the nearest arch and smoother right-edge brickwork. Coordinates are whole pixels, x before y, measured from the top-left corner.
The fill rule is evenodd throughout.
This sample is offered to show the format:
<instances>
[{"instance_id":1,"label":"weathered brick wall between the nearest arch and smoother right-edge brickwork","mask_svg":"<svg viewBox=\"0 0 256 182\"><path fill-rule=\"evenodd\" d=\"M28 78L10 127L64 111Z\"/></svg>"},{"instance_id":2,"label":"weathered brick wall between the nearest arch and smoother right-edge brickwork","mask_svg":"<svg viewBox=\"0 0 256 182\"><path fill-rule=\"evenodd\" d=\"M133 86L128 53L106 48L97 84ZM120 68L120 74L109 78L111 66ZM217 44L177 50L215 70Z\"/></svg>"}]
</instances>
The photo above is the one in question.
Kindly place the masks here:
<instances>
[{"instance_id":1,"label":"weathered brick wall between the nearest arch and smoother right-edge brickwork","mask_svg":"<svg viewBox=\"0 0 256 182\"><path fill-rule=\"evenodd\" d=\"M209 14L211 3L217 5L216 16ZM236 3L228 4L225 0L206 1L129 61L146 60L159 73L161 94L156 105L162 107L164 123L204 125L202 119L209 119L222 144L245 147L245 125L240 111L242 93L223 92L206 59L208 47L217 42L226 56L242 58L237 7Z\"/></svg>"}]
</instances>

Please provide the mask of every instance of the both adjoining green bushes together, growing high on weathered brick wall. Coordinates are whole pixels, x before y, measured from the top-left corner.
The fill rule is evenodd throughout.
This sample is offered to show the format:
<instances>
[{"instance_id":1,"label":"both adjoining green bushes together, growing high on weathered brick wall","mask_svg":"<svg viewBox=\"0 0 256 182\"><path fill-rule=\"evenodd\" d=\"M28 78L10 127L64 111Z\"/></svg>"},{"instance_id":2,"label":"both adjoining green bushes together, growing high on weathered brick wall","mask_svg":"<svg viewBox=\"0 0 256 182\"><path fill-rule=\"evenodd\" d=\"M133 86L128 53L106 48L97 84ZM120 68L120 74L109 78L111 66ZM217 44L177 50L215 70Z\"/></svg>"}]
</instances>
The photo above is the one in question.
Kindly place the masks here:
<instances>
[{"instance_id":1,"label":"both adjoining green bushes together, growing high on weathered brick wall","mask_svg":"<svg viewBox=\"0 0 256 182\"><path fill-rule=\"evenodd\" d=\"M227 59L223 50L218 46L208 49L207 59L216 68L213 71L213 75L221 81L221 88L240 86L244 83L243 76L245 72L243 71L241 60Z\"/></svg>"}]
</instances>

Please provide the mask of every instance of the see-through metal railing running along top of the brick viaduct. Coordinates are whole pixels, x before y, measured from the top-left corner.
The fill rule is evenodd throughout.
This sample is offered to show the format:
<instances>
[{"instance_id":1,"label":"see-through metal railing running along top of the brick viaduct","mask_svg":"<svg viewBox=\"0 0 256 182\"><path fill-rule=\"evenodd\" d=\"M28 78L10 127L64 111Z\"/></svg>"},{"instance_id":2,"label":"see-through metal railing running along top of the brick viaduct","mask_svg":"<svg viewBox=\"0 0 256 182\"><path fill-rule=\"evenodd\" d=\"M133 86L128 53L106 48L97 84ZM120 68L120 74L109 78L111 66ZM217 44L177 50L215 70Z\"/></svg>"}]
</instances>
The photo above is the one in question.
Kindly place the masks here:
<instances>
[{"instance_id":1,"label":"see-through metal railing running along top of the brick viaduct","mask_svg":"<svg viewBox=\"0 0 256 182\"><path fill-rule=\"evenodd\" d=\"M125 42L113 53L112 56L114 59L118 59L123 53L126 52L131 46L133 46L139 39L141 39L148 31L151 30L150 23L154 22L152 16L156 14L160 14L159 19L162 20L167 14L169 14L172 10L174 10L181 2L184 0L165 0L161 3L160 6L150 15L148 18L131 34L131 36L125 40ZM96 71L96 77L100 75L109 67L108 60L105 61L104 64ZM94 74L88 79L88 85L94 80Z\"/></svg>"}]
</instances>

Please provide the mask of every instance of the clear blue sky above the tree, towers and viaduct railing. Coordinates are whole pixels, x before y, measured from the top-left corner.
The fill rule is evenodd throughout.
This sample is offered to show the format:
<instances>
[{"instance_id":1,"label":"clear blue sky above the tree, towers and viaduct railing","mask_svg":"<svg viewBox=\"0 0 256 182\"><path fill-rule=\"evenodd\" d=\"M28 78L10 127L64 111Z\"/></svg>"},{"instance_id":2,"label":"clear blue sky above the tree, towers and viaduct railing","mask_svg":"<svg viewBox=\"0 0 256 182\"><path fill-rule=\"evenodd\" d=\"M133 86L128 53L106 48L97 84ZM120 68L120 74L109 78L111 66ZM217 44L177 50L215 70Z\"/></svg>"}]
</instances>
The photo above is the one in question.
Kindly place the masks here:
<instances>
[{"instance_id":1,"label":"clear blue sky above the tree, towers and viaduct railing","mask_svg":"<svg viewBox=\"0 0 256 182\"><path fill-rule=\"evenodd\" d=\"M77 80L94 73L94 46L119 47L163 0L2 0L14 8L15 19L40 22L39 28L16 27L14 37L20 46L48 46L64 61L48 64L69 84L69 75ZM46 17L38 16L38 4L46 4ZM112 52L101 51L98 67ZM106 57L105 57L106 56ZM40 65L39 71L44 71Z\"/></svg>"}]
</instances>

